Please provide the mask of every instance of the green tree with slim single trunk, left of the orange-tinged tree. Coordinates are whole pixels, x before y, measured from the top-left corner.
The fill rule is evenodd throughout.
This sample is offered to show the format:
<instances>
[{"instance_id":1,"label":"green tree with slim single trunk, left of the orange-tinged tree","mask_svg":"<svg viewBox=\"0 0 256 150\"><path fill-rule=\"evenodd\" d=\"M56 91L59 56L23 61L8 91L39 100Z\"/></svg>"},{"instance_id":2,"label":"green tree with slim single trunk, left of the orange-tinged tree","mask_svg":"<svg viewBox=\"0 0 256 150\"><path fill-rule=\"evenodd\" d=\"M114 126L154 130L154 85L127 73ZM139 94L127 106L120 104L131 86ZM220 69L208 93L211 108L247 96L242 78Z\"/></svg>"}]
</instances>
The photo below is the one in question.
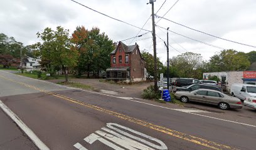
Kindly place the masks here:
<instances>
[{"instance_id":1,"label":"green tree with slim single trunk, left of the orange-tinged tree","mask_svg":"<svg viewBox=\"0 0 256 150\"><path fill-rule=\"evenodd\" d=\"M72 43L69 37L69 31L61 26L56 27L53 31L46 27L43 32L37 35L43 41L40 46L41 59L48 62L50 68L63 68L65 70L65 81L68 82L68 69L77 66L78 52L72 49Z\"/></svg>"}]
</instances>

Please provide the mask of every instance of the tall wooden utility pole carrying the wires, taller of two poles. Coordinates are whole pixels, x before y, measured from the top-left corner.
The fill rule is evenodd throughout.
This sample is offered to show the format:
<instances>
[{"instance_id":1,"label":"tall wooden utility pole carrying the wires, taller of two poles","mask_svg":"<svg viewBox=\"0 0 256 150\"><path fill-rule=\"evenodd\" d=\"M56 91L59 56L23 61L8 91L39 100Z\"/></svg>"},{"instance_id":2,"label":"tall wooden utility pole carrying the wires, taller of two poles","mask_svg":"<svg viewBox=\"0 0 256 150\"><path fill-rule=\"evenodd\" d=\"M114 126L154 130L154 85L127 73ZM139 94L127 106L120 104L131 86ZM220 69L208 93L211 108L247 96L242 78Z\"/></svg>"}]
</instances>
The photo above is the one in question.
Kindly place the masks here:
<instances>
[{"instance_id":1,"label":"tall wooden utility pole carrying the wires, taller of two poles","mask_svg":"<svg viewBox=\"0 0 256 150\"><path fill-rule=\"evenodd\" d=\"M157 91L157 65L156 65L156 29L154 22L154 0L149 0L149 3L152 5L152 36L153 36L153 47L154 47L154 91Z\"/></svg>"}]
</instances>

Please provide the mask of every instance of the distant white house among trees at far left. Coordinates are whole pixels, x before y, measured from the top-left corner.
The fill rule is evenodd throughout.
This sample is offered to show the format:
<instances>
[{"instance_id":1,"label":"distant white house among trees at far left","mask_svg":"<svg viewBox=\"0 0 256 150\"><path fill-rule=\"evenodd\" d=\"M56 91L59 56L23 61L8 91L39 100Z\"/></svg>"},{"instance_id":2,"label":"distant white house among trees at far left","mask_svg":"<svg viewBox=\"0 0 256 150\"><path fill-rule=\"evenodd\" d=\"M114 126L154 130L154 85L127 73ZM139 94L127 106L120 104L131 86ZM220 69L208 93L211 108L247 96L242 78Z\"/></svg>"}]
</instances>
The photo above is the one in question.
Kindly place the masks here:
<instances>
[{"instance_id":1,"label":"distant white house among trees at far left","mask_svg":"<svg viewBox=\"0 0 256 150\"><path fill-rule=\"evenodd\" d=\"M40 58L30 58L29 56L24 56L22 59L22 68L26 71L40 70Z\"/></svg>"}]
</instances>

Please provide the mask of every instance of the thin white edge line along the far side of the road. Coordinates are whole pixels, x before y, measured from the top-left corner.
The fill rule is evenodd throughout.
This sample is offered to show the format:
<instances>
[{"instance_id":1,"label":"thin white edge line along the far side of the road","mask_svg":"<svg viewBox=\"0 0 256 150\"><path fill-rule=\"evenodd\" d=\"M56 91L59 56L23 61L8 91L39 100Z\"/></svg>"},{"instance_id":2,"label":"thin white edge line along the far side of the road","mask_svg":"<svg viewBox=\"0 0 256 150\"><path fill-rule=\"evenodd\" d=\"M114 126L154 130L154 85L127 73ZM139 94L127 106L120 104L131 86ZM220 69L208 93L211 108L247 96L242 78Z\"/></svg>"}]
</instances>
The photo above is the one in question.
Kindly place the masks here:
<instances>
[{"instance_id":1,"label":"thin white edge line along the far side of the road","mask_svg":"<svg viewBox=\"0 0 256 150\"><path fill-rule=\"evenodd\" d=\"M8 73L8 72L6 72L6 71L2 71L2 72ZM8 74L13 74L13 73L8 73ZM14 75L14 76L19 76L18 74L13 74L13 75ZM20 76L20 77L22 77L22 78L28 78L28 77L24 77L24 76ZM28 78L28 79L33 79L33 78ZM39 79L33 79L33 80L41 81L41 80L39 80ZM72 87L68 87L68 86L63 86L63 85L60 85L60 84L51 83L51 82L49 82L49 81L41 81L41 82L45 82L45 83L49 83L49 84L55 84L56 86L63 87L63 88L67 88L67 89L79 89L79 90L85 91L85 92L87 92L87 93L94 93L94 94L109 96L109 97L112 97L112 98L120 98L120 97L117 97L117 96L111 96L111 95L107 95L107 94L96 93L96 92L93 92L93 91L87 91L87 90L80 89L80 88L72 88ZM122 98L120 98L120 99L122 99ZM124 99L124 98L123 98L123 99ZM134 99L140 99L140 98L134 98ZM173 109L171 109L171 108L166 108L166 107L163 107L163 106L158 106L158 105L154 105L154 104L144 103L144 102L141 102L141 101L135 101L135 100L132 100L132 99L125 99L125 100L127 100L127 101L133 101L133 102L136 102L136 103L147 104L147 105L155 106L155 107L158 107L158 108L164 108L164 109L173 110ZM140 99L140 100L147 101L146 99ZM183 113L185 113L185 112L183 112ZM227 121L227 122L229 122L229 123L242 124L242 125L245 125L245 126L251 126L251 127L256 128L256 126L254 126L254 125L252 125L252 124L245 124L245 123L240 123L240 122L237 122L237 121L230 121L230 120L226 120L226 119L220 119L220 118L215 118L215 117L206 116L206 115L201 115L201 114L195 114L195 113L188 113L188 114L194 114L194 115L201 116L201 117L206 117L206 118L211 118L211 119L216 119L216 120L221 120L221 121Z\"/></svg>"}]
</instances>

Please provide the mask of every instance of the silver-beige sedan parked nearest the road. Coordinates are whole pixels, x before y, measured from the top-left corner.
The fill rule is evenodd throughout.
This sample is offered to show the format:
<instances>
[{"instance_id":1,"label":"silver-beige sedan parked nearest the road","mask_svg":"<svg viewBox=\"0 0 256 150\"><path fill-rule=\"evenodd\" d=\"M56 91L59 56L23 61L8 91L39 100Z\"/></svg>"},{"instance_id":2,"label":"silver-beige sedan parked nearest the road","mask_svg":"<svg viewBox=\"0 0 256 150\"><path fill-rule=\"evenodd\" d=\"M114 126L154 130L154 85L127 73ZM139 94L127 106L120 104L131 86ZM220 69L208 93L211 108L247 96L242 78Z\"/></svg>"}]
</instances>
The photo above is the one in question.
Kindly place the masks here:
<instances>
[{"instance_id":1,"label":"silver-beige sedan parked nearest the road","mask_svg":"<svg viewBox=\"0 0 256 150\"><path fill-rule=\"evenodd\" d=\"M228 96L224 93L211 89L198 89L196 91L177 91L177 99L183 103L196 101L200 103L215 104L218 108L226 110L229 108L242 108L240 99Z\"/></svg>"}]
</instances>

